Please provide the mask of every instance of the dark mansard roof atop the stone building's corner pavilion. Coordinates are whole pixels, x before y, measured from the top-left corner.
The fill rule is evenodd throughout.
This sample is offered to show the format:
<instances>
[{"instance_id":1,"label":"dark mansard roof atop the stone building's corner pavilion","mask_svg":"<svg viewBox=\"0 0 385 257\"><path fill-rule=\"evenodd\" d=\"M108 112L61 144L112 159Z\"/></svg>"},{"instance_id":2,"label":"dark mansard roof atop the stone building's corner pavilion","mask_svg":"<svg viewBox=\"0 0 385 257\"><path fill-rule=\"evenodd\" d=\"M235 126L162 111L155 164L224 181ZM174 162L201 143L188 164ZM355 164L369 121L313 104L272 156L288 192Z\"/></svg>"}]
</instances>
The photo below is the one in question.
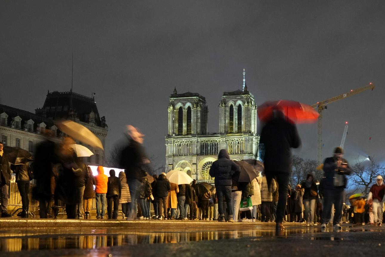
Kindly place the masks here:
<instances>
[{"instance_id":1,"label":"dark mansard roof atop the stone building's corner pavilion","mask_svg":"<svg viewBox=\"0 0 385 257\"><path fill-rule=\"evenodd\" d=\"M89 122L89 114L92 111L95 114L96 125L102 126L94 98L72 91L48 92L43 108L36 109L35 111L37 114L50 119L67 119L71 115L75 115L80 121L85 123Z\"/></svg>"}]
</instances>

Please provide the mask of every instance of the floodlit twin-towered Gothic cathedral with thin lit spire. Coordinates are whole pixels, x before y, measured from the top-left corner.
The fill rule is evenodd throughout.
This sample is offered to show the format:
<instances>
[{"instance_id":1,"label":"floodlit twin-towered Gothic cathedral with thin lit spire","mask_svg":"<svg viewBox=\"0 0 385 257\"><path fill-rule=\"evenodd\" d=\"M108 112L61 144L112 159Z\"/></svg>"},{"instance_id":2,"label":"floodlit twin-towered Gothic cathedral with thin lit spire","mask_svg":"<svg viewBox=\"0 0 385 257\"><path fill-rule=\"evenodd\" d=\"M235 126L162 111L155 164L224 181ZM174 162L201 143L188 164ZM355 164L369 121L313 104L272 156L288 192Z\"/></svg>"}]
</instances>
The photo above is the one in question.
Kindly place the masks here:
<instances>
[{"instance_id":1,"label":"floodlit twin-towered Gothic cathedral with thin lit spire","mask_svg":"<svg viewBox=\"0 0 385 257\"><path fill-rule=\"evenodd\" d=\"M195 180L212 182L209 169L220 149L227 149L231 160L259 158L257 106L244 70L243 90L224 92L218 107L219 132L209 134L206 99L174 89L168 106L166 171L181 170Z\"/></svg>"}]
</instances>

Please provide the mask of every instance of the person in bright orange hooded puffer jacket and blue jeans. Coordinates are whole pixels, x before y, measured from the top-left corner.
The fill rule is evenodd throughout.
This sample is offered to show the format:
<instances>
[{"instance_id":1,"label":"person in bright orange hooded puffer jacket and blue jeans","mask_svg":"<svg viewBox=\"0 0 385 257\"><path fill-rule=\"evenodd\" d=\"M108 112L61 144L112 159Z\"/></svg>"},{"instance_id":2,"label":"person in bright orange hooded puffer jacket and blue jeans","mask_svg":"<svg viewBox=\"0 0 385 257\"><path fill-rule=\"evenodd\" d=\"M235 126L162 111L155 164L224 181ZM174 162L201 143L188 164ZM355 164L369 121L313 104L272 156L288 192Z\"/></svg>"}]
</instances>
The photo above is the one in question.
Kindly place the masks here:
<instances>
[{"instance_id":1,"label":"person in bright orange hooded puffer jacket and blue jeans","mask_svg":"<svg viewBox=\"0 0 385 257\"><path fill-rule=\"evenodd\" d=\"M105 213L105 195L107 193L108 177L104 174L103 166L97 167L97 175L95 176L95 202L96 202L96 218L104 219ZM102 210L100 211L100 205Z\"/></svg>"}]
</instances>

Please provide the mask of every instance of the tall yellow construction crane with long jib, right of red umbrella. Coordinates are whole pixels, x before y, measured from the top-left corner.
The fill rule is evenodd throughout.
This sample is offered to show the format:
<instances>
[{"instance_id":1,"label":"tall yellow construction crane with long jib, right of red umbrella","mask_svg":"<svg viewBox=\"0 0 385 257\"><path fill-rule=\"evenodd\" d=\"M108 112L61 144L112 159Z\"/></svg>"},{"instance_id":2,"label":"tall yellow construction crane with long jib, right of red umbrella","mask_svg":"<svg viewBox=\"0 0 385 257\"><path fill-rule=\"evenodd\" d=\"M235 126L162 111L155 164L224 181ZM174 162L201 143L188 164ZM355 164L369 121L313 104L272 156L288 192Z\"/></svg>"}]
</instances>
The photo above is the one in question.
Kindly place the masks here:
<instances>
[{"instance_id":1,"label":"tall yellow construction crane with long jib, right of red umbrella","mask_svg":"<svg viewBox=\"0 0 385 257\"><path fill-rule=\"evenodd\" d=\"M370 82L368 85L364 87L360 87L356 90L350 90L345 94L340 94L339 96L332 97L322 102L317 102L313 104L311 107L316 108L320 116L318 117L318 162L322 163L322 111L327 109L326 104L331 104L332 102L336 102L341 99L345 99L346 97L353 96L355 94L361 93L368 89L374 89L374 85Z\"/></svg>"}]
</instances>

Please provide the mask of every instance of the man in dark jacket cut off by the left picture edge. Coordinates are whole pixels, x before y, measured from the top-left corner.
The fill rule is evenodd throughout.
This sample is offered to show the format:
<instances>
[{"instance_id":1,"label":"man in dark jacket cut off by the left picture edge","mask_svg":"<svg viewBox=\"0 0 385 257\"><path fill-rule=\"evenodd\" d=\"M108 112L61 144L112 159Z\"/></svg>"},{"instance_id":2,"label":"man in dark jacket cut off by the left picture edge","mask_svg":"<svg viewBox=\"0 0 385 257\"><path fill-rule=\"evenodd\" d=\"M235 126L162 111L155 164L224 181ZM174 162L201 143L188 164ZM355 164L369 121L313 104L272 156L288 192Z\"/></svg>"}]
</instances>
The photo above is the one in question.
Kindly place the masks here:
<instances>
[{"instance_id":1,"label":"man in dark jacket cut off by the left picture edge","mask_svg":"<svg viewBox=\"0 0 385 257\"><path fill-rule=\"evenodd\" d=\"M11 167L8 157L3 153L3 143L0 142L0 198L1 198L1 217L11 217L7 212L8 207L8 190L11 183Z\"/></svg>"}]
</instances>

